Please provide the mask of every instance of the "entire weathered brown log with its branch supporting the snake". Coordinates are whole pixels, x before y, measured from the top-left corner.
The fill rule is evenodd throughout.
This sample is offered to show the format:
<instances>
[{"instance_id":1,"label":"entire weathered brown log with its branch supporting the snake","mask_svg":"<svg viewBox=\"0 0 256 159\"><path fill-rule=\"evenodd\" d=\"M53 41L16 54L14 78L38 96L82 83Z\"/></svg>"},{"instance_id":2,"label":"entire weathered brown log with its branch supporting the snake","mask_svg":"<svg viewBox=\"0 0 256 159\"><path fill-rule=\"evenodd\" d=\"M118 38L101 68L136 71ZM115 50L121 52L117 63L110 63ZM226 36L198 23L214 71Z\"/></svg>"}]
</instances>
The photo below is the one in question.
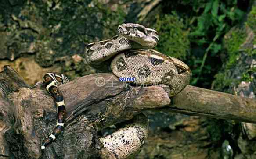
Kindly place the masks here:
<instances>
[{"instance_id":1,"label":"entire weathered brown log with its branch supporting the snake","mask_svg":"<svg viewBox=\"0 0 256 159\"><path fill-rule=\"evenodd\" d=\"M0 73L0 159L40 158L40 145L56 124L54 99L43 85L30 88L11 67ZM256 100L187 86L169 97L169 86L133 87L112 73L91 74L59 86L68 117L63 136L43 158L115 158L97 131L145 110L169 111L256 123ZM14 92L12 92L14 91Z\"/></svg>"}]
</instances>

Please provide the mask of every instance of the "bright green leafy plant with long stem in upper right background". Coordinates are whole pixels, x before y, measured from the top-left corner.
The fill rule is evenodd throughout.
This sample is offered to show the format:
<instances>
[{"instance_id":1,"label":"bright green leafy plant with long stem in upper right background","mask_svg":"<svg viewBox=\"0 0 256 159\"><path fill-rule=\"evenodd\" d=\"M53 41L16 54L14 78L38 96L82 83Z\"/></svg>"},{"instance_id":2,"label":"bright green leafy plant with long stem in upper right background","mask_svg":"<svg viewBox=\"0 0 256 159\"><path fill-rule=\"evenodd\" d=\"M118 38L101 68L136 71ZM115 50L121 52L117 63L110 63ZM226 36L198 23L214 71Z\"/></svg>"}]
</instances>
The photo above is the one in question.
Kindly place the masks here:
<instances>
[{"instance_id":1,"label":"bright green leafy plant with long stem in upper right background","mask_svg":"<svg viewBox=\"0 0 256 159\"><path fill-rule=\"evenodd\" d=\"M204 56L198 59L198 67L196 70L192 70L196 78L192 81L192 84L196 84L198 80L205 81L208 80L201 77L202 73L207 73L206 58L208 56L218 56L220 54L223 46L221 45L221 38L223 35L238 22L244 12L236 7L237 0L224 2L220 0L210 0L204 4L204 10L202 14L197 17L197 25L191 32L191 39L198 42L197 45L205 46L206 51ZM199 8L195 8L198 11ZM229 23L228 21L231 21ZM210 70L211 67L208 69ZM204 70L203 70L204 69Z\"/></svg>"}]
</instances>

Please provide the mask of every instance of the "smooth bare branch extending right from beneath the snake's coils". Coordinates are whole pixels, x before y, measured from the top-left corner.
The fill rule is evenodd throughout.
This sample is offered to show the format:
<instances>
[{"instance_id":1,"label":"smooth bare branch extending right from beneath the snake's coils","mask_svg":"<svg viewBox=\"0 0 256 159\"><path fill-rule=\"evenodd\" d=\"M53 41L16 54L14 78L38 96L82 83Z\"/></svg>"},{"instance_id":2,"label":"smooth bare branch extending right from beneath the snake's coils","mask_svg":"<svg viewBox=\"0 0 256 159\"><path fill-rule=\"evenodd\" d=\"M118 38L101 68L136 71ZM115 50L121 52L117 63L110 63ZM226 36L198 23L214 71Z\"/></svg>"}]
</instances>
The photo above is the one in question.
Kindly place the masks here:
<instances>
[{"instance_id":1,"label":"smooth bare branch extending right from beneath the snake's coils","mask_svg":"<svg viewBox=\"0 0 256 159\"><path fill-rule=\"evenodd\" d=\"M165 111L256 123L256 99L188 85Z\"/></svg>"}]
</instances>

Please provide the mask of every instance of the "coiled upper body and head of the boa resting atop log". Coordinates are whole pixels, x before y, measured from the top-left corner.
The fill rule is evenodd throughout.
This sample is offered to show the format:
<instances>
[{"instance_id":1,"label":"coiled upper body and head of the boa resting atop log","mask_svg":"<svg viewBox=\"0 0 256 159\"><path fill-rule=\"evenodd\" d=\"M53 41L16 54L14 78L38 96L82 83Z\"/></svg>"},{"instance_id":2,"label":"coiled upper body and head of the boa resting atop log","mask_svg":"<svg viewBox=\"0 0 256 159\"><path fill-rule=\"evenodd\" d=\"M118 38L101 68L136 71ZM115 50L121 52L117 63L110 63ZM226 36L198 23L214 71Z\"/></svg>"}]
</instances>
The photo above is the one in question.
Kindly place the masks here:
<instances>
[{"instance_id":1,"label":"coiled upper body and head of the boa resting atop log","mask_svg":"<svg viewBox=\"0 0 256 159\"><path fill-rule=\"evenodd\" d=\"M102 71L111 70L117 77L135 77L139 85L166 84L170 96L189 83L191 71L182 61L152 48L159 42L158 33L138 24L119 25L111 39L87 45L87 63Z\"/></svg>"}]
</instances>

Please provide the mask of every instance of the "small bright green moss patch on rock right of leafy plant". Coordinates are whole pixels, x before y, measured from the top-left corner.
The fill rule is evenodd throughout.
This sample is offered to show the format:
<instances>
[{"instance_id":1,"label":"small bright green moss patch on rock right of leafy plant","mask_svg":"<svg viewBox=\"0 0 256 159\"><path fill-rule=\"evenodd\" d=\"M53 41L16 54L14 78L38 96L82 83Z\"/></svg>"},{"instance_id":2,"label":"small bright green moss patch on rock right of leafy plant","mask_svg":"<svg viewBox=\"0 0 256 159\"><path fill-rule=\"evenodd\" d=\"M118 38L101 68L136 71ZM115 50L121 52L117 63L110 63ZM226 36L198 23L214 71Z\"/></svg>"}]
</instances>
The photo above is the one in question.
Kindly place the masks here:
<instances>
[{"instance_id":1,"label":"small bright green moss patch on rock right of leafy plant","mask_svg":"<svg viewBox=\"0 0 256 159\"><path fill-rule=\"evenodd\" d=\"M227 68L236 63L239 56L239 49L243 42L245 42L246 32L245 28L232 28L224 36L224 48L227 50L228 60Z\"/></svg>"}]
</instances>

